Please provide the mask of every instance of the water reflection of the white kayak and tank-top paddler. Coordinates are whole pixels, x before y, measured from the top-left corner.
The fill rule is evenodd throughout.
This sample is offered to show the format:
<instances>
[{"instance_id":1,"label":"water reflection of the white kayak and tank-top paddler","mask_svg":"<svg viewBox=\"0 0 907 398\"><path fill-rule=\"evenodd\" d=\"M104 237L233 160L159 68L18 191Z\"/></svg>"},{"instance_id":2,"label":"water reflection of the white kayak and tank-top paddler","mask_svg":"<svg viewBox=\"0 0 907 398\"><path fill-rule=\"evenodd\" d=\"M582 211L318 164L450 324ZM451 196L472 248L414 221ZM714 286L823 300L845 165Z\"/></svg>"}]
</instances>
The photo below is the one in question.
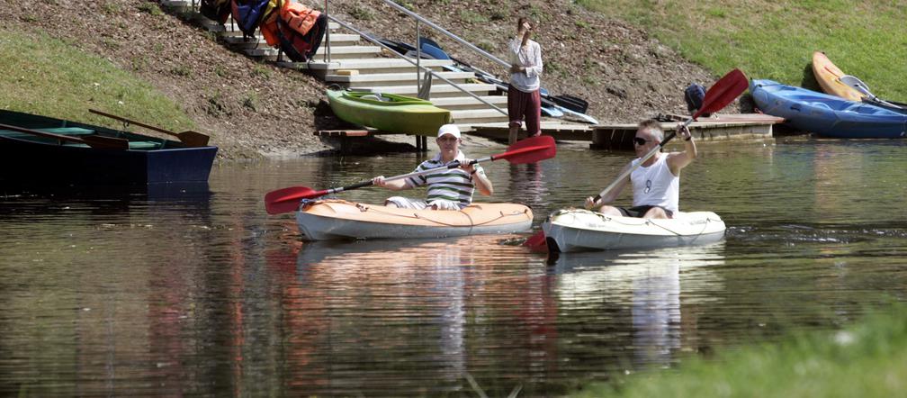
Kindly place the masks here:
<instances>
[{"instance_id":1,"label":"water reflection of the white kayak and tank-top paddler","mask_svg":"<svg viewBox=\"0 0 907 398\"><path fill-rule=\"evenodd\" d=\"M607 308L606 313L629 310L629 340L622 340L632 352L632 367L667 366L677 359L682 333L695 334L695 321L683 322L682 314L695 319L695 306L714 301L708 292L722 288L720 278L708 267L723 265L724 251L724 243L718 243L643 252L560 254L551 257L549 264L559 276L556 290L562 313L584 311L590 304Z\"/></svg>"}]
</instances>

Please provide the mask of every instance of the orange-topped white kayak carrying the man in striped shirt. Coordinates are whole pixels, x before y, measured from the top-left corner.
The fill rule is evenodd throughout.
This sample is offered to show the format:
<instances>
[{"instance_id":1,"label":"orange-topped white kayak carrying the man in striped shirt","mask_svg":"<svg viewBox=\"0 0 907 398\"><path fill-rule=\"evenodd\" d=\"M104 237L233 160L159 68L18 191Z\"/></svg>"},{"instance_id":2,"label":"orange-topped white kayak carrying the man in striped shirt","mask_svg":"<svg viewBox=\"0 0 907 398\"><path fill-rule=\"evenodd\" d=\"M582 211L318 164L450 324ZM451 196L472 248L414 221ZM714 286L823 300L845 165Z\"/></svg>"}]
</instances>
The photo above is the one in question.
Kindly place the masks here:
<instances>
[{"instance_id":1,"label":"orange-topped white kayak carrying the man in striped shirt","mask_svg":"<svg viewBox=\"0 0 907 398\"><path fill-rule=\"evenodd\" d=\"M320 200L303 203L296 222L307 241L443 238L525 232L532 227L532 210L522 204L471 204L459 211L413 210Z\"/></svg>"}]
</instances>

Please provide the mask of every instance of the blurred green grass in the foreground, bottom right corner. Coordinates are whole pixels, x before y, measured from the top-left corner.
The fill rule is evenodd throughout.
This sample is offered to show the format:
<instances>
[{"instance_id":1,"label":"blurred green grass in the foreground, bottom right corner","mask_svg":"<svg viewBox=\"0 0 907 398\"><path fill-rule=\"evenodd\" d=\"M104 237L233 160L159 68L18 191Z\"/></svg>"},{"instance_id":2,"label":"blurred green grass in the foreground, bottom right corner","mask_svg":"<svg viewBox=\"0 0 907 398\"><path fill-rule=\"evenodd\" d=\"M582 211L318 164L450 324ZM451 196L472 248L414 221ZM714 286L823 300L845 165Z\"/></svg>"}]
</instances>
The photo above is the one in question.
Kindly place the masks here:
<instances>
[{"instance_id":1,"label":"blurred green grass in the foreground, bottom right corner","mask_svg":"<svg viewBox=\"0 0 907 398\"><path fill-rule=\"evenodd\" d=\"M802 333L685 360L677 370L596 383L579 397L889 397L907 391L907 307L875 313L850 328Z\"/></svg>"}]
</instances>

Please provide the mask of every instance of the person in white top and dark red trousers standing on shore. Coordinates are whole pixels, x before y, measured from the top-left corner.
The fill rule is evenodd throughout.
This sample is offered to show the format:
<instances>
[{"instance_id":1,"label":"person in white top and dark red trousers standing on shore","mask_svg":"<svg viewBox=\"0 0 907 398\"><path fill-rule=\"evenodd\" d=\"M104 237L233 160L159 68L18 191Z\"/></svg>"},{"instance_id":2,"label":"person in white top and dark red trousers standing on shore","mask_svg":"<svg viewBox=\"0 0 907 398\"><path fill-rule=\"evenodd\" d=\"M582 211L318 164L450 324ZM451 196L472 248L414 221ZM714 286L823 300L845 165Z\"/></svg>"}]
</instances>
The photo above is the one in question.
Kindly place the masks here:
<instances>
[{"instance_id":1,"label":"person in white top and dark red trousers standing on shore","mask_svg":"<svg viewBox=\"0 0 907 398\"><path fill-rule=\"evenodd\" d=\"M530 39L532 22L520 17L516 36L507 45L511 63L507 87L507 116L510 119L509 144L516 143L517 133L525 119L526 134L541 134L541 46Z\"/></svg>"}]
</instances>

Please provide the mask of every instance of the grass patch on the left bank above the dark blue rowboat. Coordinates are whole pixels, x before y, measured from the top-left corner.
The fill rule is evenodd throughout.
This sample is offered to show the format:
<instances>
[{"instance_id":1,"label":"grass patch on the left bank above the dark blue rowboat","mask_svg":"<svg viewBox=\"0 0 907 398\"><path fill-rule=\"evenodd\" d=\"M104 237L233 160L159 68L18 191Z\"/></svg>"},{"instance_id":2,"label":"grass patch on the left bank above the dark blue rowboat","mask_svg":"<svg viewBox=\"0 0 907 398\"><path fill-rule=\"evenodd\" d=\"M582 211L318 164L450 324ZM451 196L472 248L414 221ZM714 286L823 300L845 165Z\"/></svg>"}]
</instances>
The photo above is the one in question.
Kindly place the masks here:
<instances>
[{"instance_id":1,"label":"grass patch on the left bank above the dark blue rowboat","mask_svg":"<svg viewBox=\"0 0 907 398\"><path fill-rule=\"evenodd\" d=\"M48 35L0 30L0 68L0 109L122 125L90 114L94 108L172 131L195 127L141 77Z\"/></svg>"}]
</instances>

